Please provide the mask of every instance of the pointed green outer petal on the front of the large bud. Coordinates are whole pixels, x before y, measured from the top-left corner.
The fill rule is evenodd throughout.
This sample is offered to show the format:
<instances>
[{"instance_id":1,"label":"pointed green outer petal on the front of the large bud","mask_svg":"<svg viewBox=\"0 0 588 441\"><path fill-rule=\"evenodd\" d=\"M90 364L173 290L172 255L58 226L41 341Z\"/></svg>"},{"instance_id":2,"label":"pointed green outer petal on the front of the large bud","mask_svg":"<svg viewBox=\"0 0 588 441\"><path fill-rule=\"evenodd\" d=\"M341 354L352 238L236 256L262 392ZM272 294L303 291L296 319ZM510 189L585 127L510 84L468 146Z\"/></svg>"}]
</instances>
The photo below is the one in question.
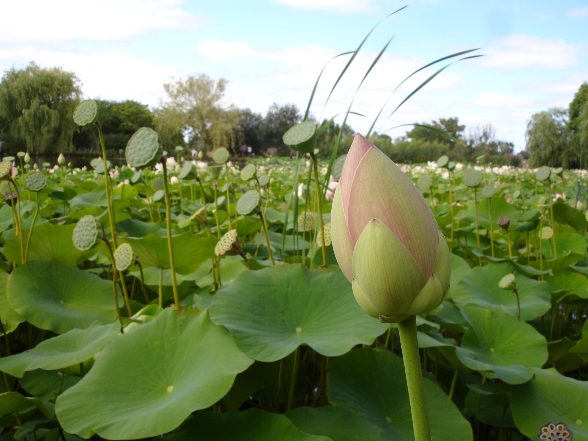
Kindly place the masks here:
<instances>
[{"instance_id":1,"label":"pointed green outer petal on the front of the large bud","mask_svg":"<svg viewBox=\"0 0 588 441\"><path fill-rule=\"evenodd\" d=\"M355 244L353 277L383 316L405 313L426 282L415 258L379 219L368 222Z\"/></svg>"}]
</instances>

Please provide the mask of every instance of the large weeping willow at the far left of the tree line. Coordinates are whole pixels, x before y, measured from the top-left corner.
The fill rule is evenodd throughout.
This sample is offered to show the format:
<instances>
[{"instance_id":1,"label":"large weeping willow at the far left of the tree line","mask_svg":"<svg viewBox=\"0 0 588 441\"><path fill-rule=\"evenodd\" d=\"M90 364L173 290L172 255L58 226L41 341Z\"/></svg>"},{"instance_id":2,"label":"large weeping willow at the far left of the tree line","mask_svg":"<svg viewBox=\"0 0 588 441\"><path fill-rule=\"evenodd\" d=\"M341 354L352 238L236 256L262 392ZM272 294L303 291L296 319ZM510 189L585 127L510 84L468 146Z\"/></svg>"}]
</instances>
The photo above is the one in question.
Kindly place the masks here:
<instances>
[{"instance_id":1,"label":"large weeping willow at the far left of the tree line","mask_svg":"<svg viewBox=\"0 0 588 441\"><path fill-rule=\"evenodd\" d=\"M10 150L64 152L73 148L72 118L79 79L61 68L9 69L0 81L0 136Z\"/></svg>"}]
</instances>

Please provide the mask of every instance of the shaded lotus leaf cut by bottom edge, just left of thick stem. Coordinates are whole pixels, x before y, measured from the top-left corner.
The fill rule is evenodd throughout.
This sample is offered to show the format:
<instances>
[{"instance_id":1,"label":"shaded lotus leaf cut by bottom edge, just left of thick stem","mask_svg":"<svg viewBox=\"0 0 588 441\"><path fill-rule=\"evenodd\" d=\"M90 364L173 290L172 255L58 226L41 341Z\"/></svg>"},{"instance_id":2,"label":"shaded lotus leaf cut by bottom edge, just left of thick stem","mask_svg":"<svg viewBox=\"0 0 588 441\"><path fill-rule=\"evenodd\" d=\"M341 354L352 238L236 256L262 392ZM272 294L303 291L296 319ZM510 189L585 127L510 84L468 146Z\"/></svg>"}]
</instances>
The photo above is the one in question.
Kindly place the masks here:
<instances>
[{"instance_id":1,"label":"shaded lotus leaf cut by bottom edge, just left of thick stem","mask_svg":"<svg viewBox=\"0 0 588 441\"><path fill-rule=\"evenodd\" d=\"M339 406L298 407L285 414L297 429L333 441L385 441L383 429L353 410Z\"/></svg>"}]
</instances>

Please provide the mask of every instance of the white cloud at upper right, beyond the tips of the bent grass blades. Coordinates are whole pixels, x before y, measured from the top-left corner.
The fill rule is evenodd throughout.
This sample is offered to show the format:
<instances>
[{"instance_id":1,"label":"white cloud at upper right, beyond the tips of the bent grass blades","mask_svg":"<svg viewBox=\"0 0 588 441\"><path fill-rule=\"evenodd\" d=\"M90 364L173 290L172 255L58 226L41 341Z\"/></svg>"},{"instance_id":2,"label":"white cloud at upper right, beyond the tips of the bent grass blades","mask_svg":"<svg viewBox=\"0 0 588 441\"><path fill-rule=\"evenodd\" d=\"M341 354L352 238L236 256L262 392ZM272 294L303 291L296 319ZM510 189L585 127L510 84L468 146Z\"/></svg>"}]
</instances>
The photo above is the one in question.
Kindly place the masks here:
<instances>
[{"instance_id":1,"label":"white cloud at upper right, beyond the tips of the bent grass blades","mask_svg":"<svg viewBox=\"0 0 588 441\"><path fill-rule=\"evenodd\" d=\"M563 69L580 64L579 52L579 46L563 39L507 35L491 39L486 56L479 58L478 63L507 69Z\"/></svg>"}]
</instances>

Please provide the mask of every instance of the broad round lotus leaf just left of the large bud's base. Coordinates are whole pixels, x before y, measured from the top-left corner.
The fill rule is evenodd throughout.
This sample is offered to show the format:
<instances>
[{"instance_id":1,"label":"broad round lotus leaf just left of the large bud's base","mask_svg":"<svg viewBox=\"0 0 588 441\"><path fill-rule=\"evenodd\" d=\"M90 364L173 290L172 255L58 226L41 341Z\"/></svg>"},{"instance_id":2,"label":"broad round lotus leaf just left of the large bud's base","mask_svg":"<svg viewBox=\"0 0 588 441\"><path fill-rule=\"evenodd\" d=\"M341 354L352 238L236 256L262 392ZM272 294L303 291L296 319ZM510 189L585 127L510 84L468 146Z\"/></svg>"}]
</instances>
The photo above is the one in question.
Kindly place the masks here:
<instances>
[{"instance_id":1,"label":"broad round lotus leaf just left of the large bud's base","mask_svg":"<svg viewBox=\"0 0 588 441\"><path fill-rule=\"evenodd\" d=\"M341 355L370 345L389 326L363 312L336 266L244 272L216 293L211 318L230 330L243 352L264 362L284 358L302 343L322 355Z\"/></svg>"}]
</instances>

